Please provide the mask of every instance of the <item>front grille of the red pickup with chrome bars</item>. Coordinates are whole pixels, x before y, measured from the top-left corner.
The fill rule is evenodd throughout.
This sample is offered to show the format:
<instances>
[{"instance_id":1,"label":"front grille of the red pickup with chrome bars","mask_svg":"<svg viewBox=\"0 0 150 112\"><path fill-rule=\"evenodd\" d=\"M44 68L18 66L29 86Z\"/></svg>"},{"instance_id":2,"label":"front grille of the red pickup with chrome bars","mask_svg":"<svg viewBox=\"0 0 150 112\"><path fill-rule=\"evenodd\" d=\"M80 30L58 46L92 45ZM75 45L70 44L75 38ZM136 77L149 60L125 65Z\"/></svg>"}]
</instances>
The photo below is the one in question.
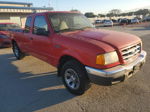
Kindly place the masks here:
<instances>
[{"instance_id":1,"label":"front grille of the red pickup with chrome bars","mask_svg":"<svg viewBox=\"0 0 150 112\"><path fill-rule=\"evenodd\" d=\"M141 52L141 44L129 46L121 51L124 61L129 61L131 58L137 56Z\"/></svg>"}]
</instances>

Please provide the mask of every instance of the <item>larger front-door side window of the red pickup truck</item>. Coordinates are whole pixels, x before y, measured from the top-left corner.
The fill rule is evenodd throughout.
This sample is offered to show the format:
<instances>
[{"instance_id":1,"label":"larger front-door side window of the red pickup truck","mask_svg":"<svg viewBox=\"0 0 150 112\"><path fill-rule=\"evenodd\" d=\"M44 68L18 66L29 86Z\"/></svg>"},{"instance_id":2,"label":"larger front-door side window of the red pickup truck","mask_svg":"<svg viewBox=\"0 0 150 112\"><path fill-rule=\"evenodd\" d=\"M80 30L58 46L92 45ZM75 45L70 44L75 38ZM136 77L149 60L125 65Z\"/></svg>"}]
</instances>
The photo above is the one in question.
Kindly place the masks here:
<instances>
[{"instance_id":1,"label":"larger front-door side window of the red pickup truck","mask_svg":"<svg viewBox=\"0 0 150 112\"><path fill-rule=\"evenodd\" d=\"M33 34L48 36L48 25L44 16L36 16L33 27Z\"/></svg>"}]
</instances>

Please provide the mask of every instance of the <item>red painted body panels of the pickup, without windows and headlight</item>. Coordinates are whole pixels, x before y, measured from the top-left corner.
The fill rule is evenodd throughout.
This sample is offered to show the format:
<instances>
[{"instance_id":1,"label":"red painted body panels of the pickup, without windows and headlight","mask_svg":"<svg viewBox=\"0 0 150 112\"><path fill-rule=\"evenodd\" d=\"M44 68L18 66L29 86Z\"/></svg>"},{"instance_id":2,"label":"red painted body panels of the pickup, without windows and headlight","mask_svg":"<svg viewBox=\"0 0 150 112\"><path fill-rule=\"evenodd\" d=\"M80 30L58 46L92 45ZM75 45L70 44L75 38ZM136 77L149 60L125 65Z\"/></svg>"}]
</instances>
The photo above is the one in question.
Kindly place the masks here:
<instances>
[{"instance_id":1,"label":"red painted body panels of the pickup, without windows and headlight","mask_svg":"<svg viewBox=\"0 0 150 112\"><path fill-rule=\"evenodd\" d=\"M107 69L120 64L125 64L121 56L121 49L141 40L133 35L119 33L114 31L106 31L101 29L89 28L84 31L77 30L65 33L55 33L50 21L49 13L72 13L72 12L46 12L31 15L33 17L32 25L36 15L44 15L50 35L37 36L30 33L16 32L13 34L13 40L17 42L19 48L28 54L48 62L53 66L59 65L62 56L72 56L86 66L98 69ZM30 40L30 37L33 40ZM117 51L119 62L102 66L96 64L96 56L107 52Z\"/></svg>"}]
</instances>

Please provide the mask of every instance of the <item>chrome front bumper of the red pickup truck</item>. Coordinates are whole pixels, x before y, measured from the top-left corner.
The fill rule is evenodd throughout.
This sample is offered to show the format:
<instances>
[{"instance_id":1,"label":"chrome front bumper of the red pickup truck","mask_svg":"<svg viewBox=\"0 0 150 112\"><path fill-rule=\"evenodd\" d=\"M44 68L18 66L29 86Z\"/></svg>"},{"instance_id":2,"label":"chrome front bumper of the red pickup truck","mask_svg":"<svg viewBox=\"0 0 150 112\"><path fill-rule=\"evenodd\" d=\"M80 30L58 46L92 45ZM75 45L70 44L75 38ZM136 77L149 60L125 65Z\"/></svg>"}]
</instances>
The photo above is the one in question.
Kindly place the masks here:
<instances>
[{"instance_id":1,"label":"chrome front bumper of the red pickup truck","mask_svg":"<svg viewBox=\"0 0 150 112\"><path fill-rule=\"evenodd\" d=\"M146 55L147 53L145 51L142 51L139 57L128 65L119 65L105 70L95 69L86 66L85 69L89 75L91 74L95 76L100 76L105 79L111 79L112 82L118 82L130 78L133 74L138 72L145 63Z\"/></svg>"}]
</instances>

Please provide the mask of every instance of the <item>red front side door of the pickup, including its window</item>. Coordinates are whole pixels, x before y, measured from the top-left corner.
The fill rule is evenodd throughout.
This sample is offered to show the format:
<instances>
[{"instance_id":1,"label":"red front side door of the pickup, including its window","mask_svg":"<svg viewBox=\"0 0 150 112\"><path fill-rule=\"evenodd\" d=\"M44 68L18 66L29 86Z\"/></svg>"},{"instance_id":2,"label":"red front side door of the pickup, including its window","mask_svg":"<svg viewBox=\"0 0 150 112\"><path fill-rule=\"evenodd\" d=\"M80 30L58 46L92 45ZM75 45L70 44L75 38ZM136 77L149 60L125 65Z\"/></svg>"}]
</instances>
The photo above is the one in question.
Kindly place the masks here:
<instances>
[{"instance_id":1,"label":"red front side door of the pickup, including its window","mask_svg":"<svg viewBox=\"0 0 150 112\"><path fill-rule=\"evenodd\" d=\"M44 15L34 18L32 40L32 55L46 61L51 58L52 37Z\"/></svg>"}]
</instances>

